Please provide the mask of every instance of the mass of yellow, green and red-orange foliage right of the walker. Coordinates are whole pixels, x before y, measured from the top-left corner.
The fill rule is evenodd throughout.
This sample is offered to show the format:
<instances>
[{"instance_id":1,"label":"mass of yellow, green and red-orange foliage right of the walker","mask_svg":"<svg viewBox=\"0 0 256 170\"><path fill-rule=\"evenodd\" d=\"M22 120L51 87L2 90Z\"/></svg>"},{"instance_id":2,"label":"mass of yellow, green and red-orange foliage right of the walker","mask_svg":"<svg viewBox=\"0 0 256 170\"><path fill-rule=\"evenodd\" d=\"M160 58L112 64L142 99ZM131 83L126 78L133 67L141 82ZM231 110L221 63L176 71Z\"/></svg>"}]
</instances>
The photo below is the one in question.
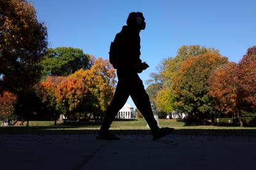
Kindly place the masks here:
<instances>
[{"instance_id":1,"label":"mass of yellow, green and red-orange foliage right of the walker","mask_svg":"<svg viewBox=\"0 0 256 170\"><path fill-rule=\"evenodd\" d=\"M158 113L179 111L199 122L217 114L241 117L255 113L256 46L242 60L228 62L218 50L199 45L182 46L166 59L148 92ZM154 92L150 89L155 87Z\"/></svg>"}]
</instances>

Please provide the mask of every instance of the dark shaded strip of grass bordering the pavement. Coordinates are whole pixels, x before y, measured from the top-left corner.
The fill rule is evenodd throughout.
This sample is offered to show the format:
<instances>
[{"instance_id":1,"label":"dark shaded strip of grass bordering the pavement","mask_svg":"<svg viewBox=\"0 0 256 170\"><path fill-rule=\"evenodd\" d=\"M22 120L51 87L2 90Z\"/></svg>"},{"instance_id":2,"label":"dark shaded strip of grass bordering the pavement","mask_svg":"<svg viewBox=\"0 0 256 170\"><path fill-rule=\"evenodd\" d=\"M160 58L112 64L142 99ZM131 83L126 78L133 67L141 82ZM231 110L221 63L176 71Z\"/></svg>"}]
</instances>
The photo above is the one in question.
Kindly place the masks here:
<instances>
[{"instance_id":1,"label":"dark shaded strip of grass bordering the pavement","mask_svg":"<svg viewBox=\"0 0 256 170\"><path fill-rule=\"evenodd\" d=\"M89 126L90 127L90 126ZM87 127L88 128L88 127ZM0 127L1 135L97 135L99 127L84 129L81 127ZM112 130L116 135L151 135L149 129L145 130ZM254 136L256 129L178 129L171 135L189 136Z\"/></svg>"}]
</instances>

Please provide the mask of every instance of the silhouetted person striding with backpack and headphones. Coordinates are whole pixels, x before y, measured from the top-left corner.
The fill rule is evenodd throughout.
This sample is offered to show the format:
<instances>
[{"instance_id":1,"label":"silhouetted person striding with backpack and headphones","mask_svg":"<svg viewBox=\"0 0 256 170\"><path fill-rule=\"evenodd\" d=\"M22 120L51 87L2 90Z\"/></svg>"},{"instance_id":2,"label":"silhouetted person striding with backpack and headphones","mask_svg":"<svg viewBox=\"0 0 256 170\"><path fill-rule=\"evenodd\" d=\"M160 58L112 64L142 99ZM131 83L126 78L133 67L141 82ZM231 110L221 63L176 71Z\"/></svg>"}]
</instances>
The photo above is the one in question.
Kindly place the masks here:
<instances>
[{"instance_id":1,"label":"silhouetted person striding with backpack and headphones","mask_svg":"<svg viewBox=\"0 0 256 170\"><path fill-rule=\"evenodd\" d=\"M145 29L145 18L141 12L131 12L126 23L127 26L123 26L122 31L115 36L114 42L111 43L109 57L111 64L117 69L118 83L97 138L119 139L109 132L109 127L118 111L125 105L131 95L133 102L149 124L153 139L159 139L168 135L174 129L158 127L157 121L153 117L149 95L145 92L142 81L138 76L138 73L149 67L139 59L141 54L139 32Z\"/></svg>"}]
</instances>

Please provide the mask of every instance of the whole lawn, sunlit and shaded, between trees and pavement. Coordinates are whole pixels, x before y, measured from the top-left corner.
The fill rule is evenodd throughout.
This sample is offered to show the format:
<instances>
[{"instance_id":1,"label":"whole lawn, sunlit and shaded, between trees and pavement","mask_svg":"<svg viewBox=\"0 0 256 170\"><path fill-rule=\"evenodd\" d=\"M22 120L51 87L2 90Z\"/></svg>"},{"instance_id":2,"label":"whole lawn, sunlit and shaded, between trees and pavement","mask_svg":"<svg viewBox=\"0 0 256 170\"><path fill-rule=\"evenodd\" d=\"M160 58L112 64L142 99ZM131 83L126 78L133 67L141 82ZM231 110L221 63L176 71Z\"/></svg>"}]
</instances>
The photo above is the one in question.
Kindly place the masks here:
<instances>
[{"instance_id":1,"label":"whole lawn, sunlit and shaded, between trees and pavement","mask_svg":"<svg viewBox=\"0 0 256 170\"><path fill-rule=\"evenodd\" d=\"M173 119L160 119L161 127L173 127L173 135L212 135L212 136L256 136L256 127L218 127L218 126L185 126L184 122ZM26 125L26 122L25 124ZM145 119L135 121L114 121L111 130L121 135L150 135ZM98 133L100 124L96 121L69 122L66 125L53 121L29 121L29 127L0 127L0 134L5 135L44 135L74 134L87 135Z\"/></svg>"}]
</instances>

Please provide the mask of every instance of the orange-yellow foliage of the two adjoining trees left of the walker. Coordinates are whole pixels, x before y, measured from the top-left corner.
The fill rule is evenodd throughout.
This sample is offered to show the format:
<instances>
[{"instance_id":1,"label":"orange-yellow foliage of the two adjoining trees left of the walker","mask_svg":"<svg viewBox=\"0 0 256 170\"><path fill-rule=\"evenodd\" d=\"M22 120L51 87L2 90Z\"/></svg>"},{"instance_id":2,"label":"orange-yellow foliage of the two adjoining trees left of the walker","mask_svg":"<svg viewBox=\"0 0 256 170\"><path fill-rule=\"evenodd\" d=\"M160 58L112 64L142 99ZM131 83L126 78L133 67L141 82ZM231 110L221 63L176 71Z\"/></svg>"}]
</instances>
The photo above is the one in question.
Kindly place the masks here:
<instances>
[{"instance_id":1,"label":"orange-yellow foliage of the two adjoining trees left of the walker","mask_svg":"<svg viewBox=\"0 0 256 170\"><path fill-rule=\"evenodd\" d=\"M91 68L69 76L47 76L39 94L48 108L61 114L106 111L114 95L115 70L106 59L93 59Z\"/></svg>"}]
</instances>

